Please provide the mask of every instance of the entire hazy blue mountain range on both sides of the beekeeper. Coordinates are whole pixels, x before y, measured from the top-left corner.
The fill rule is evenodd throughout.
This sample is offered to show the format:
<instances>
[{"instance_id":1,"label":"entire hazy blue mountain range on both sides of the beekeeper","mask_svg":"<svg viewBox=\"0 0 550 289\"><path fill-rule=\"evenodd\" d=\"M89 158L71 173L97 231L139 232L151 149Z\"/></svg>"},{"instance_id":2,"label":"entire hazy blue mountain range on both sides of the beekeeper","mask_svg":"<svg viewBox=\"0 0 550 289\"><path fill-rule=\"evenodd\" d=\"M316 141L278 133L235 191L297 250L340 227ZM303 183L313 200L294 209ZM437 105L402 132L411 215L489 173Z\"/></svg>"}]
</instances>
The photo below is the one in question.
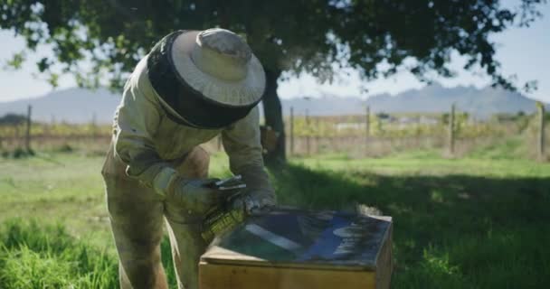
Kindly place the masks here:
<instances>
[{"instance_id":1,"label":"entire hazy blue mountain range on both sides of the beekeeper","mask_svg":"<svg viewBox=\"0 0 550 289\"><path fill-rule=\"evenodd\" d=\"M26 114L26 107L31 104L33 119L39 121L89 123L95 116L97 123L110 123L119 101L119 94L113 94L107 89L63 89L53 91L41 98L0 103L0 116L10 112ZM293 107L296 115L305 114L307 109L312 116L363 114L367 105L373 112L441 113L449 111L452 103L456 103L460 111L469 112L476 117L519 111L529 113L536 109L535 100L517 92L490 87L446 89L439 84L423 89L407 90L395 96L376 95L366 100L336 96L282 100L285 115L289 114L289 107Z\"/></svg>"}]
</instances>

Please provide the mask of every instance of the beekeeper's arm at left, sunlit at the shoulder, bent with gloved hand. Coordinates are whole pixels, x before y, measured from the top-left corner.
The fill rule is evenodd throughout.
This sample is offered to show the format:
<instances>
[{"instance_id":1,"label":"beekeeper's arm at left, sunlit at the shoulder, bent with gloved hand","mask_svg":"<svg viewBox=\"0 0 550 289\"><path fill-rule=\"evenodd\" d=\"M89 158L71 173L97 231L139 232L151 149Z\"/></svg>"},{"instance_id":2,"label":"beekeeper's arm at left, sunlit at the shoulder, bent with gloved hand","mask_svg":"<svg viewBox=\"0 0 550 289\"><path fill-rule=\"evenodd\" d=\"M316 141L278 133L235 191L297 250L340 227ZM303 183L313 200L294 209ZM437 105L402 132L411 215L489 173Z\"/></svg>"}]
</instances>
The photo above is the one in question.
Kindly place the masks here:
<instances>
[{"instance_id":1,"label":"beekeeper's arm at left, sunlit at the shoulder, bent with gloved hand","mask_svg":"<svg viewBox=\"0 0 550 289\"><path fill-rule=\"evenodd\" d=\"M126 173L156 193L189 210L203 212L219 201L219 192L208 189L207 180L188 180L156 153L153 137L160 123L161 107L144 71L144 61L125 85L115 118L115 154L127 164ZM162 140L158 140L162 141Z\"/></svg>"}]
</instances>

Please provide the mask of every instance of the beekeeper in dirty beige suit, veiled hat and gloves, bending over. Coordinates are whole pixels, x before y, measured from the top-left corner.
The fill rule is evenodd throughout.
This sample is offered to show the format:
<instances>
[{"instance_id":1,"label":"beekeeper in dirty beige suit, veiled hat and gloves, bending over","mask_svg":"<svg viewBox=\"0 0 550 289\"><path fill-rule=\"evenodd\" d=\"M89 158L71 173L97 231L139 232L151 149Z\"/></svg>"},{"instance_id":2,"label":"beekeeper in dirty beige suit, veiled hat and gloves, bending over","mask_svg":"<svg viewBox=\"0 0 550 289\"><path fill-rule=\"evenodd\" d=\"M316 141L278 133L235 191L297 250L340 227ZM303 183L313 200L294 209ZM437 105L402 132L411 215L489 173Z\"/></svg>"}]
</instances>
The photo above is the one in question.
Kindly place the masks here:
<instances>
[{"instance_id":1,"label":"beekeeper in dirty beige suit, veiled hat and gloves, bending over","mask_svg":"<svg viewBox=\"0 0 550 289\"><path fill-rule=\"evenodd\" d=\"M102 174L119 252L122 288L167 288L160 259L163 219L179 288L197 288L204 213L223 200L207 184L200 144L222 135L232 173L247 185L245 210L274 205L261 158L260 61L223 29L177 31L139 61L124 87Z\"/></svg>"}]
</instances>

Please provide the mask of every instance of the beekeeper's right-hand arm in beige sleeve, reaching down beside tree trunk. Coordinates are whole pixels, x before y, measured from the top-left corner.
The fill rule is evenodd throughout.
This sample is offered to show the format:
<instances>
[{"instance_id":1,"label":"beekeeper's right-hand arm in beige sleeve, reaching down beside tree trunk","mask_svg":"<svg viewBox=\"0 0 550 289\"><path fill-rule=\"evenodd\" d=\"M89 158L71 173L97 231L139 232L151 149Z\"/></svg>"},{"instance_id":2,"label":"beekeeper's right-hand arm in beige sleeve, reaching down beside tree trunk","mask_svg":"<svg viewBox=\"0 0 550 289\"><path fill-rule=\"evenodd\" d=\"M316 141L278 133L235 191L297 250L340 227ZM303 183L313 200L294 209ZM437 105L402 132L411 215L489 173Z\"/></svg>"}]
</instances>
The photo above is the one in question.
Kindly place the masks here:
<instances>
[{"instance_id":1,"label":"beekeeper's right-hand arm in beige sleeve, reaching down beside tree trunk","mask_svg":"<svg viewBox=\"0 0 550 289\"><path fill-rule=\"evenodd\" d=\"M222 140L230 169L242 175L250 196L261 207L275 205L275 192L261 156L259 108L254 107L247 117L223 130Z\"/></svg>"}]
</instances>

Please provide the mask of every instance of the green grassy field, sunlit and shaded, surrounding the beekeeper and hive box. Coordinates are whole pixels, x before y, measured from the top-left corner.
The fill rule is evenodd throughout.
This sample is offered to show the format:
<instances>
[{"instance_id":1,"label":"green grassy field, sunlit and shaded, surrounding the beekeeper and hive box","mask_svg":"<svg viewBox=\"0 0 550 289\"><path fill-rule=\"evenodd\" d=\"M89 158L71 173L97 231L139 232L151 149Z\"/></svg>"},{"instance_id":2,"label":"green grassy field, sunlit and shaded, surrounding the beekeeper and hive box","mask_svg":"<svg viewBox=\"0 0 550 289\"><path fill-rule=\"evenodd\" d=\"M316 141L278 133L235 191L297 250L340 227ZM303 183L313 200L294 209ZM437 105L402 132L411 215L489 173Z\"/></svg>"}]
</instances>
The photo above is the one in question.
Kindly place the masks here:
<instances>
[{"instance_id":1,"label":"green grassy field, sunlit and shaded, surrounding the beekeeper and hive box","mask_svg":"<svg viewBox=\"0 0 550 289\"><path fill-rule=\"evenodd\" d=\"M515 149L512 141L461 159L327 154L293 159L271 176L284 204L350 210L358 202L393 216L393 288L550 288L550 163ZM0 162L0 288L117 284L102 157ZM228 174L222 154L211 174Z\"/></svg>"}]
</instances>

